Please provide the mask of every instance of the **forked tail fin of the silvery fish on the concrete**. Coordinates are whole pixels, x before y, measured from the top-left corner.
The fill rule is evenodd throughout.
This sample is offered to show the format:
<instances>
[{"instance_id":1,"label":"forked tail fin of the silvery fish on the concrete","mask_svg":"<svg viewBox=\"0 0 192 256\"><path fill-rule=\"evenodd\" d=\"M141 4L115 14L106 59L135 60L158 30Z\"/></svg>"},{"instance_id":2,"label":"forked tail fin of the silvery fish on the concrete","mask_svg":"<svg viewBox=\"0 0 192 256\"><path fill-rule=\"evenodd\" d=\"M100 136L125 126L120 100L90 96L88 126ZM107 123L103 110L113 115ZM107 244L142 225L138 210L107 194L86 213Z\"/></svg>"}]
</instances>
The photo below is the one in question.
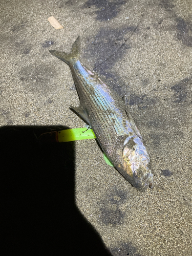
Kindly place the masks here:
<instances>
[{"instance_id":1,"label":"forked tail fin of the silvery fish on the concrete","mask_svg":"<svg viewBox=\"0 0 192 256\"><path fill-rule=\"evenodd\" d=\"M68 65L73 59L79 59L80 57L80 48L81 48L81 43L80 43L80 36L77 37L76 41L74 42L71 52L67 54L66 52L60 52L60 51L55 51L55 50L50 50L49 52L57 57L58 59L61 59L65 61Z\"/></svg>"}]
</instances>

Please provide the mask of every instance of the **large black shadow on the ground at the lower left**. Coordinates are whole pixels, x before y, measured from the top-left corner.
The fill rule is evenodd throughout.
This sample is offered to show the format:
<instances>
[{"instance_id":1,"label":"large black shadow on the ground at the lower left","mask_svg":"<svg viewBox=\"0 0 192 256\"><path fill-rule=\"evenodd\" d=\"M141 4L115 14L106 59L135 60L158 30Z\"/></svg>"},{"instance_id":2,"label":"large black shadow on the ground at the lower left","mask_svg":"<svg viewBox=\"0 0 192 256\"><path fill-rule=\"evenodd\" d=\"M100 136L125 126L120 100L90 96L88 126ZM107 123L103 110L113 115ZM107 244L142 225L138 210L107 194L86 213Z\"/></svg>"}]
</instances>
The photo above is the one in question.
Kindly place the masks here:
<instances>
[{"instance_id":1,"label":"large black shadow on the ground at the lower left","mask_svg":"<svg viewBox=\"0 0 192 256\"><path fill-rule=\"evenodd\" d=\"M75 205L74 142L39 143L62 129L0 128L2 255L111 255Z\"/></svg>"}]
</instances>

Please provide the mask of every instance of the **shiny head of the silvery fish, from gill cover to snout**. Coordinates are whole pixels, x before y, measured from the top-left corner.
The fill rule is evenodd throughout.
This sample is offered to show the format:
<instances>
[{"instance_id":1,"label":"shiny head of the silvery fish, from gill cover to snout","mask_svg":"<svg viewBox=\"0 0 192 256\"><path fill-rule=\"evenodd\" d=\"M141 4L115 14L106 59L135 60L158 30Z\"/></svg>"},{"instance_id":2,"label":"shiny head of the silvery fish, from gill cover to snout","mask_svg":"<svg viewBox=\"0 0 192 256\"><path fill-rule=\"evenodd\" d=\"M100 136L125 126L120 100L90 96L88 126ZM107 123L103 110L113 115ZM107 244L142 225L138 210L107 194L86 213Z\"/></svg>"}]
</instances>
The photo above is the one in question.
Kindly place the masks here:
<instances>
[{"instance_id":1,"label":"shiny head of the silvery fish, from gill cover to snout","mask_svg":"<svg viewBox=\"0 0 192 256\"><path fill-rule=\"evenodd\" d=\"M153 188L153 174L147 167L150 159L142 140L135 135L124 141L122 150L123 173L125 178L138 190Z\"/></svg>"}]
</instances>

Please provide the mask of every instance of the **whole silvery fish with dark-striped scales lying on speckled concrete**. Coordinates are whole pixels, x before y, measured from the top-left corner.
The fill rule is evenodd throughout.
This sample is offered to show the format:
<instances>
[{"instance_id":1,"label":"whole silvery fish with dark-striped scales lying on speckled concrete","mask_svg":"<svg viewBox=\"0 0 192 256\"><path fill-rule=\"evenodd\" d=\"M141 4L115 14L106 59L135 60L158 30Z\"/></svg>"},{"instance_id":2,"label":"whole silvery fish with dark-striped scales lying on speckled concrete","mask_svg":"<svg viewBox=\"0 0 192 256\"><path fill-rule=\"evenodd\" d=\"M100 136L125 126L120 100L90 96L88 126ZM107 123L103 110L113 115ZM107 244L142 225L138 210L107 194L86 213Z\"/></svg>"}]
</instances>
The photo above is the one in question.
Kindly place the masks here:
<instances>
[{"instance_id":1,"label":"whole silvery fish with dark-striped scales lying on speckled concrete","mask_svg":"<svg viewBox=\"0 0 192 256\"><path fill-rule=\"evenodd\" d=\"M81 64L80 48L78 36L69 54L49 51L70 67L80 99L78 107L70 108L90 125L106 157L127 181L138 190L153 188L153 174L147 167L150 158L131 116L127 97L120 97Z\"/></svg>"}]
</instances>

